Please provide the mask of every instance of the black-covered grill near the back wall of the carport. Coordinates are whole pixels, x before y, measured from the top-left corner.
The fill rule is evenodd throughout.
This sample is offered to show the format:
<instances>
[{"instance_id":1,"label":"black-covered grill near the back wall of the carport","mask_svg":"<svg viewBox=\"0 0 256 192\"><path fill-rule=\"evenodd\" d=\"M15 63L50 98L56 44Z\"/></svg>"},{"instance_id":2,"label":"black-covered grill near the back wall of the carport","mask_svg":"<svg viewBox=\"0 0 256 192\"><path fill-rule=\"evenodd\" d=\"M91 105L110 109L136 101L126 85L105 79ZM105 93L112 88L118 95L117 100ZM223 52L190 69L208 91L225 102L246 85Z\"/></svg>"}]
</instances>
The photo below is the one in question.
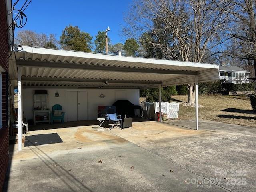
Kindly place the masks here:
<instances>
[{"instance_id":1,"label":"black-covered grill near the back wall of the carport","mask_svg":"<svg viewBox=\"0 0 256 192\"><path fill-rule=\"evenodd\" d=\"M125 115L128 117L134 117L134 104L132 104L128 100L118 100L114 104L116 106L116 114L124 117Z\"/></svg>"}]
</instances>

